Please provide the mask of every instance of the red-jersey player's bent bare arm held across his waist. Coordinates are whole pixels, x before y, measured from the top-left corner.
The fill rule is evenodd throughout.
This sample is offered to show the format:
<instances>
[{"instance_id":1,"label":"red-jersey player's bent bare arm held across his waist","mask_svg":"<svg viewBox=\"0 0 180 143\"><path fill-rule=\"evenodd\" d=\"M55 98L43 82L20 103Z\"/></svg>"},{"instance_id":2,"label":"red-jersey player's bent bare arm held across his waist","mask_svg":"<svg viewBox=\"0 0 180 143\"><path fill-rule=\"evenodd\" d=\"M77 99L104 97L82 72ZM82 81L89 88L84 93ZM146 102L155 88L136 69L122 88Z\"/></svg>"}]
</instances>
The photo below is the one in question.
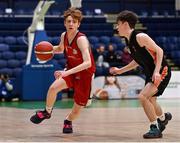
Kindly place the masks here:
<instances>
[{"instance_id":1,"label":"red-jersey player's bent bare arm held across his waist","mask_svg":"<svg viewBox=\"0 0 180 143\"><path fill-rule=\"evenodd\" d=\"M88 42L87 38L85 36L79 37L77 40L77 45L82 53L83 62L80 65L66 71L63 74L63 76L74 74L74 73L77 73L79 71L82 71L82 70L85 70L85 69L88 69L89 67L91 67L89 42Z\"/></svg>"}]
</instances>

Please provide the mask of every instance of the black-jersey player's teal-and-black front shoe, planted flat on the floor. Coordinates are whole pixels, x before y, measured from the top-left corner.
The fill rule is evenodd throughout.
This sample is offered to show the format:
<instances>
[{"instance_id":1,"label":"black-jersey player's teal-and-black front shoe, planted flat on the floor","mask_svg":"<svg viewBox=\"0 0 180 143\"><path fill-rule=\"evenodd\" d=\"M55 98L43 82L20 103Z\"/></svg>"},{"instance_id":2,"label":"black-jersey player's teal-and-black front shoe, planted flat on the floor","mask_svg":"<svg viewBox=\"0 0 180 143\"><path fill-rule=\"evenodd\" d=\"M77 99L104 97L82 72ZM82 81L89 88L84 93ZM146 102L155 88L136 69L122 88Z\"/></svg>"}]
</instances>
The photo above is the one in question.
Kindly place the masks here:
<instances>
[{"instance_id":1,"label":"black-jersey player's teal-and-black front shoe, planted flat on the floor","mask_svg":"<svg viewBox=\"0 0 180 143\"><path fill-rule=\"evenodd\" d=\"M162 138L161 131L157 128L156 125L151 124L149 132L143 135L145 139L153 139L153 138Z\"/></svg>"}]
</instances>

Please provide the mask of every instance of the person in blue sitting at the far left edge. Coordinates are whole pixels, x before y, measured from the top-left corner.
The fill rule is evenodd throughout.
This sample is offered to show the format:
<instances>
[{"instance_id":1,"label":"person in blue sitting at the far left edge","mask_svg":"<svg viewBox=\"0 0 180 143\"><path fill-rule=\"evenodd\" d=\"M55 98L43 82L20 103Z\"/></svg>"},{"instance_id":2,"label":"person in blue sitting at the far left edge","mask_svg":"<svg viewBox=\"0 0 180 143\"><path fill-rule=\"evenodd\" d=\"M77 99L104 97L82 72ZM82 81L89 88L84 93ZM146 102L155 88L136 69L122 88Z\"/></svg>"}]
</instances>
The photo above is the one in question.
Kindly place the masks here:
<instances>
[{"instance_id":1,"label":"person in blue sitting at the far left edge","mask_svg":"<svg viewBox=\"0 0 180 143\"><path fill-rule=\"evenodd\" d=\"M0 99L5 99L5 101L11 101L13 84L7 74L0 74Z\"/></svg>"}]
</instances>

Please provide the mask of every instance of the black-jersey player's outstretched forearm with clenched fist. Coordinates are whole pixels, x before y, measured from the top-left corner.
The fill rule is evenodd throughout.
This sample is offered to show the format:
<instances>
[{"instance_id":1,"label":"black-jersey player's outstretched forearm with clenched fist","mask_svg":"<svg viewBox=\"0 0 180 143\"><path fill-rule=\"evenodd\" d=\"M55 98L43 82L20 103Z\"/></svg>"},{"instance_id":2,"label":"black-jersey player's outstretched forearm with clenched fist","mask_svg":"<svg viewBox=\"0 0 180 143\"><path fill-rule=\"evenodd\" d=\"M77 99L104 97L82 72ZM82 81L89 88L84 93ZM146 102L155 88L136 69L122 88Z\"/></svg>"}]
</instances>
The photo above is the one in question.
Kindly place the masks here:
<instances>
[{"instance_id":1,"label":"black-jersey player's outstretched forearm with clenched fist","mask_svg":"<svg viewBox=\"0 0 180 143\"><path fill-rule=\"evenodd\" d=\"M134 60L132 60L128 65L126 65L126 66L124 66L122 68L112 67L110 69L110 73L113 74L113 75L122 74L122 73L130 71L132 69L135 69L137 66L138 66L138 64Z\"/></svg>"}]
</instances>

